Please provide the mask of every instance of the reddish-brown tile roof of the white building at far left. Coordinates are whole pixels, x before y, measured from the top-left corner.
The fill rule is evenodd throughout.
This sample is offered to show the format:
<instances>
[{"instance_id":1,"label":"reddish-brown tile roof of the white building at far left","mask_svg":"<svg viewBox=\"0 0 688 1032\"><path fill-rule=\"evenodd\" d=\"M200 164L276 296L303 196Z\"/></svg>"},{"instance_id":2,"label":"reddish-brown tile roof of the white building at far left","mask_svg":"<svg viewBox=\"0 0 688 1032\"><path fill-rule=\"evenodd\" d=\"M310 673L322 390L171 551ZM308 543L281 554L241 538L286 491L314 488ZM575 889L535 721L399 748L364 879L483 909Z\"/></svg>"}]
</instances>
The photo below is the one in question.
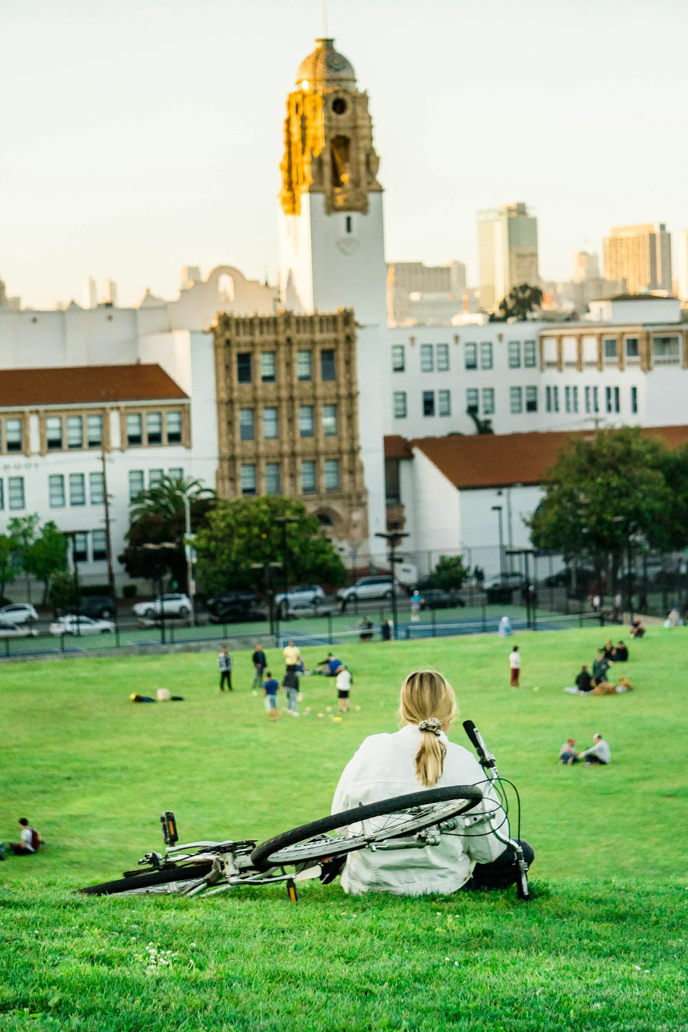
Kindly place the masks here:
<instances>
[{"instance_id":1,"label":"reddish-brown tile roof of the white building at far left","mask_svg":"<svg viewBox=\"0 0 688 1032\"><path fill-rule=\"evenodd\" d=\"M188 395L159 365L0 369L0 406L160 401Z\"/></svg>"}]
</instances>

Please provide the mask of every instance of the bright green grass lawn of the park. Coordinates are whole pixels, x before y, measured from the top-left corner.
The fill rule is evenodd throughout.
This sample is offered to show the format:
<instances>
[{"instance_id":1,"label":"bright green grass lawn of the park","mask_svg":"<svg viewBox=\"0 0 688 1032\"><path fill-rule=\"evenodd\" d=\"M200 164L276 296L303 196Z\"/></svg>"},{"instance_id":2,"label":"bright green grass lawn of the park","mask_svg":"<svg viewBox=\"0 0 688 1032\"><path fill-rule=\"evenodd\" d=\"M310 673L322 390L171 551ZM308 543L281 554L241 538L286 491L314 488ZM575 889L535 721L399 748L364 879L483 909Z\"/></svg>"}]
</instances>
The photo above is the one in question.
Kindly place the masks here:
<instances>
[{"instance_id":1,"label":"bright green grass lawn of the park","mask_svg":"<svg viewBox=\"0 0 688 1032\"><path fill-rule=\"evenodd\" d=\"M688 1028L688 637L657 628L631 642L623 673L635 691L599 699L561 690L599 631L514 640L518 691L513 640L351 644L341 657L360 710L331 719L334 685L313 677L303 716L275 725L249 689L248 654L234 656L237 690L222 696L214 653L0 666L0 838L27 815L48 842L0 865L0 1027ZM338 882L306 883L296 906L277 889L199 901L69 894L158 848L164 809L183 840L264 838L324 815L362 738L396 730L400 681L420 665L447 674L462 718L519 787L532 903L513 890L353 898ZM160 686L185 702L129 702ZM557 766L565 738L587 745L595 731L611 742L609 768ZM460 722L451 737L467 744ZM178 954L171 966L149 970L150 942Z\"/></svg>"}]
</instances>

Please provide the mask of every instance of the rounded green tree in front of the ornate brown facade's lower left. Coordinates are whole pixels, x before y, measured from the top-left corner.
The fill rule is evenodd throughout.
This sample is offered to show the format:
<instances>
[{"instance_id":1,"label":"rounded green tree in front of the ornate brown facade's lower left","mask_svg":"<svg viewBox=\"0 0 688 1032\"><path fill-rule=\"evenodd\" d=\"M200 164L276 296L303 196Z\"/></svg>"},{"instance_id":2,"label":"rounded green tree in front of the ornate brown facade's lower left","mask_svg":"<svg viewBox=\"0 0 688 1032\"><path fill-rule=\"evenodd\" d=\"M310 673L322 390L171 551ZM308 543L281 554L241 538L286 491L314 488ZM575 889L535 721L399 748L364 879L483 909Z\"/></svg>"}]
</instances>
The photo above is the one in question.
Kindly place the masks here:
<instances>
[{"instance_id":1,"label":"rounded green tree in front of the ornate brown facade's lower left","mask_svg":"<svg viewBox=\"0 0 688 1032\"><path fill-rule=\"evenodd\" d=\"M281 516L298 520L285 528L286 551L283 529L273 522ZM221 504L208 513L207 526L197 533L195 545L198 579L206 594L262 590L264 573L252 569L252 563L286 561L291 583L315 581L334 586L346 581L343 563L318 519L292 498L267 495ZM284 576L284 572L279 574L280 579Z\"/></svg>"}]
</instances>

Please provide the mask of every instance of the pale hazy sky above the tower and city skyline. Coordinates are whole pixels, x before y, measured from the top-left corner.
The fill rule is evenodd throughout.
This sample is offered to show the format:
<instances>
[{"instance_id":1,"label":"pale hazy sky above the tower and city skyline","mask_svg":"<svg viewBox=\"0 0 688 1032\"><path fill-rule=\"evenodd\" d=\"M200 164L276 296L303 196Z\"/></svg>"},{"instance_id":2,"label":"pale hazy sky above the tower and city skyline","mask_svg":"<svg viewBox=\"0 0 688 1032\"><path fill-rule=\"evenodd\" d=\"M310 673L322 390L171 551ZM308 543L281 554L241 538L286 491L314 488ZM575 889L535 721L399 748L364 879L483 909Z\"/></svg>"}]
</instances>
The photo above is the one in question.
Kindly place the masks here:
<instances>
[{"instance_id":1,"label":"pale hazy sky above the tower and city skyline","mask_svg":"<svg viewBox=\"0 0 688 1032\"><path fill-rule=\"evenodd\" d=\"M0 277L25 304L274 282L287 94L323 0L1 5ZM368 92L388 260L478 277L477 212L524 200L540 275L614 225L688 228L685 0L328 0Z\"/></svg>"}]
</instances>

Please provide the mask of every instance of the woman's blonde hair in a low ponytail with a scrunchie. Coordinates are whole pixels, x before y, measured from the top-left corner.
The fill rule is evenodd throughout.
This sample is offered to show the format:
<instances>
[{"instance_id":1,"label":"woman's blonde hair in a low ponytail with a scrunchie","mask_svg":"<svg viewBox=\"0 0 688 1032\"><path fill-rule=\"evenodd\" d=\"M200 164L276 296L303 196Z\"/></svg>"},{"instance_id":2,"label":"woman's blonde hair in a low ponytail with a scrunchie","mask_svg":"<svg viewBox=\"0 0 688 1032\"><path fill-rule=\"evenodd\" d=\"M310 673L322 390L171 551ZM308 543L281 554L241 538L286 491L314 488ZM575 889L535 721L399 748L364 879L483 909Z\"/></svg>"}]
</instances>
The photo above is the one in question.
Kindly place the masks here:
<instances>
[{"instance_id":1,"label":"woman's blonde hair in a low ponytail with a scrunchie","mask_svg":"<svg viewBox=\"0 0 688 1032\"><path fill-rule=\"evenodd\" d=\"M405 723L424 724L416 753L416 776L431 788L443 775L447 754L439 729L448 727L457 715L454 689L434 670L415 671L401 685L399 709Z\"/></svg>"}]
</instances>

